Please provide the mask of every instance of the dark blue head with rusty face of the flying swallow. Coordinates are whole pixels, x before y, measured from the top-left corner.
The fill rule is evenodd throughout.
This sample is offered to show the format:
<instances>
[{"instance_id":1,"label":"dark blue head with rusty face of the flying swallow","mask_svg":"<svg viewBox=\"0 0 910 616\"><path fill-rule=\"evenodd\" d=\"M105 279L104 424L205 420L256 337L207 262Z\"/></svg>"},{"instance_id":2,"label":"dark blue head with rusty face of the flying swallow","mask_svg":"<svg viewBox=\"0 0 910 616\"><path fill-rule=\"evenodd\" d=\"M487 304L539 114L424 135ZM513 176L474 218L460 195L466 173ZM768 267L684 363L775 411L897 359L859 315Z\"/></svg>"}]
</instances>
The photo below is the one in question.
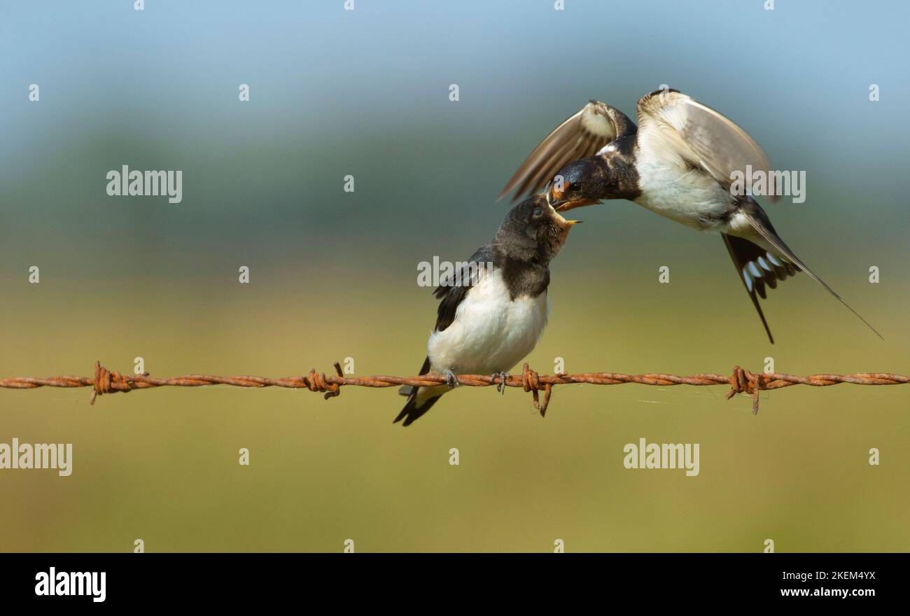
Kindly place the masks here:
<instances>
[{"instance_id":1,"label":"dark blue head with rusty face of the flying swallow","mask_svg":"<svg viewBox=\"0 0 910 616\"><path fill-rule=\"evenodd\" d=\"M552 206L563 212L591 206L602 199L634 198L639 192L634 167L618 151L610 151L562 167L553 177L547 195Z\"/></svg>"}]
</instances>

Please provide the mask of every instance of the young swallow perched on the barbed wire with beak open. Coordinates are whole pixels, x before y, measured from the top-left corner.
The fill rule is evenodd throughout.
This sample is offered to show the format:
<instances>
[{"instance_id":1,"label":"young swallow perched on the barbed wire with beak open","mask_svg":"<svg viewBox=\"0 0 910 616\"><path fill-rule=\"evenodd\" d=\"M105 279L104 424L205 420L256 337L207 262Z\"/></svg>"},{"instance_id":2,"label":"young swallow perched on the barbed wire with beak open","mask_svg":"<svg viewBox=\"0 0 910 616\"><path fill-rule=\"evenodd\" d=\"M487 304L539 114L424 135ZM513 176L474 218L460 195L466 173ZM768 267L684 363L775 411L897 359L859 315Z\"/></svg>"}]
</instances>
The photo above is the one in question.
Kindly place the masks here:
<instances>
[{"instance_id":1,"label":"young swallow perched on the barbed wire with beak open","mask_svg":"<svg viewBox=\"0 0 910 616\"><path fill-rule=\"evenodd\" d=\"M420 418L458 385L456 375L505 379L531 352L547 324L550 261L576 222L561 217L542 194L527 198L509 210L491 242L442 281L434 291L440 308L420 374L445 375L446 385L399 389L408 401L396 422L409 426Z\"/></svg>"}]
</instances>

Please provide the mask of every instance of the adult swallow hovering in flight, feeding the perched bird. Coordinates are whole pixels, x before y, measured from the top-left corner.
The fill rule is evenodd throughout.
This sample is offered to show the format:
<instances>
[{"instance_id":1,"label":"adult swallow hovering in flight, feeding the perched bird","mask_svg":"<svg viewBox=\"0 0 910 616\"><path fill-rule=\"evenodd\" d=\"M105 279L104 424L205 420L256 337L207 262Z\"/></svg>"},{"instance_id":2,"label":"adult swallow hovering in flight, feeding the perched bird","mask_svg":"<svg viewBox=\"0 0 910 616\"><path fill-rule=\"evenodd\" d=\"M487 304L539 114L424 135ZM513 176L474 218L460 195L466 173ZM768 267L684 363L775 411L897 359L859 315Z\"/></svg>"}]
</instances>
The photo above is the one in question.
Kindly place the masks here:
<instances>
[{"instance_id":1,"label":"adult swallow hovering in flight, feeding the perched bird","mask_svg":"<svg viewBox=\"0 0 910 616\"><path fill-rule=\"evenodd\" d=\"M550 182L547 200L558 211L630 199L687 227L719 231L772 344L758 297L801 270L881 338L784 244L753 197L734 194L740 192L732 190L734 172L743 174L746 166L770 177L771 164L751 136L677 90L643 96L637 111L640 126L591 101L541 141L499 198L512 190L516 197L536 192Z\"/></svg>"}]
</instances>

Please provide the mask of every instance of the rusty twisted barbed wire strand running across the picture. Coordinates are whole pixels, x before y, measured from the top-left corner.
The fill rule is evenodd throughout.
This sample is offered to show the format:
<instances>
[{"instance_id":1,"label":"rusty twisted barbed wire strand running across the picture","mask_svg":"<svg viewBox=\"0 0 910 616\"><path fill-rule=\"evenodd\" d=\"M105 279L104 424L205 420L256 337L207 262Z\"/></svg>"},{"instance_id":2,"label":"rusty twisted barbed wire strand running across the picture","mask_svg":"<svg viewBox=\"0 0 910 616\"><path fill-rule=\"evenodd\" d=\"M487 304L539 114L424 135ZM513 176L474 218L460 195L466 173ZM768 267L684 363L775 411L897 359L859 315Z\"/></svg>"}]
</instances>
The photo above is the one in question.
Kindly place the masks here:
<instances>
[{"instance_id":1,"label":"rusty twisted barbed wire strand running across the picture","mask_svg":"<svg viewBox=\"0 0 910 616\"><path fill-rule=\"evenodd\" d=\"M341 365L334 364L336 375L326 376L324 372L310 369L305 377L285 377L283 379L270 379L268 377L215 377L204 374L190 374L170 379L156 379L144 374L122 374L116 370L104 368L101 362L95 362L94 377L48 377L35 379L32 377L18 377L14 379L0 379L0 388L5 389L37 389L42 387L60 388L92 388L92 397L89 404L95 404L98 396L116 392L129 393L134 389L151 389L158 387L202 387L204 385L231 385L243 388L280 387L288 389L309 389L325 394L325 399L334 398L341 393L345 386L389 388L400 385L414 387L429 387L446 384L442 375L425 374L417 377L346 377L341 370ZM533 397L534 408L541 412L543 417L547 412L554 385L569 385L571 383L587 383L588 385L622 385L624 383L637 383L639 385L727 385L730 390L726 399L731 399L735 394L745 393L753 397L752 412L758 413L759 392L771 389L781 389L793 385L809 385L811 387L828 387L841 383L854 385L906 385L910 377L900 374L885 372L870 372L859 374L814 374L807 377L798 377L780 372L753 373L747 369L736 366L733 374L725 377L721 374L694 374L681 377L674 374L621 374L618 372L582 372L580 374L566 374L558 372L554 375L539 375L524 364L521 375L508 376L505 382L499 375L462 374L456 377L460 385L468 387L498 388L515 387L530 391ZM543 392L541 402L539 392Z\"/></svg>"}]
</instances>

